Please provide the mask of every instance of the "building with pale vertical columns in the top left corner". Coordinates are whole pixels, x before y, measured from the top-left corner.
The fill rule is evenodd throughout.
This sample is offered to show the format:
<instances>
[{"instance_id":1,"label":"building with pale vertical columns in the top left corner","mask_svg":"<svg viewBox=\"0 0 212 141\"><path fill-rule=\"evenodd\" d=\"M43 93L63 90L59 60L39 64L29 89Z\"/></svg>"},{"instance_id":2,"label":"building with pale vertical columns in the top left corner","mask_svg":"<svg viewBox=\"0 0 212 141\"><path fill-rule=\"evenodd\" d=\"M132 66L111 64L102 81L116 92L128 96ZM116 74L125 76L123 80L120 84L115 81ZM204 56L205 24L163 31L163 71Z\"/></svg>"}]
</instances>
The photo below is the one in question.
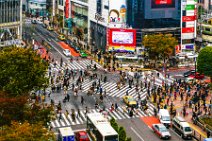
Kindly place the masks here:
<instances>
[{"instance_id":1,"label":"building with pale vertical columns in the top left corner","mask_svg":"<svg viewBox=\"0 0 212 141\"><path fill-rule=\"evenodd\" d=\"M17 44L22 38L22 1L0 0L0 46Z\"/></svg>"}]
</instances>

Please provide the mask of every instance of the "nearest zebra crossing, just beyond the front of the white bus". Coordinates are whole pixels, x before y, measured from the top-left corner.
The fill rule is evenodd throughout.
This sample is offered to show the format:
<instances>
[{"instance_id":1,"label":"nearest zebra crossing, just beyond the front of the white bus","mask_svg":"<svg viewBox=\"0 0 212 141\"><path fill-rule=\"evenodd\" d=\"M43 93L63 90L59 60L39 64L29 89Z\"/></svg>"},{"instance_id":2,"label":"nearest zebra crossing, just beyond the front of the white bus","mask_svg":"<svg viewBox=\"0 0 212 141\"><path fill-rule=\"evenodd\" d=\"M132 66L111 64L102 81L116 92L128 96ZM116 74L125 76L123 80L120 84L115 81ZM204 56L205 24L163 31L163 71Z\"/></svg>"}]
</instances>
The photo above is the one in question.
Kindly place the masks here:
<instances>
[{"instance_id":1,"label":"nearest zebra crossing, just beyond the front of the white bus","mask_svg":"<svg viewBox=\"0 0 212 141\"><path fill-rule=\"evenodd\" d=\"M139 118L139 117L146 117L146 116L153 116L154 115L154 105L151 103L148 103L149 109L147 112L142 111L140 108L135 109L133 117L130 117L127 113L127 110L125 107L118 107L118 109L115 111L110 111L110 109L106 109L104 112L101 112L108 120L111 118L114 118L116 120L122 120L122 119L130 119L130 118ZM99 109L90 109L89 113L99 113ZM66 127L66 126L75 126L75 125L81 125L86 124L87 117L84 109L80 110L80 114L78 114L75 111L75 121L72 119L71 114L61 114L61 118L59 119L59 114L57 115L57 118L55 120L52 120L50 122L50 126L52 128L60 128L60 127Z\"/></svg>"}]
</instances>

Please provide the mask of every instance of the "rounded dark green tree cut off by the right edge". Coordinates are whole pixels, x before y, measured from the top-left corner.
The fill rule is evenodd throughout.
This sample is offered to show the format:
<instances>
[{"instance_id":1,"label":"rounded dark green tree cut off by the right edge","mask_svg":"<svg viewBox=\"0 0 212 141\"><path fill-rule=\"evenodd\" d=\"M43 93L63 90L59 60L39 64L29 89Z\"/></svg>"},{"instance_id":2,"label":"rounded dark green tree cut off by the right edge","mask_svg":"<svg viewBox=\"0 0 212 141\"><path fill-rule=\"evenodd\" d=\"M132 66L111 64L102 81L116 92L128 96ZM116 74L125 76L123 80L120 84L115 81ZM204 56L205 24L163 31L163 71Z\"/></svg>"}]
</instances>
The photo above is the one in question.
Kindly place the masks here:
<instances>
[{"instance_id":1,"label":"rounded dark green tree cut off by the right edge","mask_svg":"<svg viewBox=\"0 0 212 141\"><path fill-rule=\"evenodd\" d=\"M205 47L200 50L197 58L197 70L209 76L212 82L212 47Z\"/></svg>"}]
</instances>

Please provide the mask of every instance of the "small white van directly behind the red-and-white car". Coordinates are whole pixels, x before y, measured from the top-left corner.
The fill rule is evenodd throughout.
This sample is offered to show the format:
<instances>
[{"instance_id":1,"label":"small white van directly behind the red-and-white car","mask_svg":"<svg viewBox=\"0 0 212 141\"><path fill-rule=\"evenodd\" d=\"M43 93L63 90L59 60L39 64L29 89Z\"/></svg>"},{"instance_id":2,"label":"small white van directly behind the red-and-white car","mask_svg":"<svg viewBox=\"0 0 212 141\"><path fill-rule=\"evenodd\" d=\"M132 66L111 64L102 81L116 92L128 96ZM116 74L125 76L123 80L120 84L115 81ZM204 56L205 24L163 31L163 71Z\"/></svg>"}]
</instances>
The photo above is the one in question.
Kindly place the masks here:
<instances>
[{"instance_id":1,"label":"small white van directly behind the red-and-white car","mask_svg":"<svg viewBox=\"0 0 212 141\"><path fill-rule=\"evenodd\" d=\"M158 112L158 118L160 120L160 123L164 124L166 127L170 127L171 119L169 111L167 109L160 109Z\"/></svg>"}]
</instances>

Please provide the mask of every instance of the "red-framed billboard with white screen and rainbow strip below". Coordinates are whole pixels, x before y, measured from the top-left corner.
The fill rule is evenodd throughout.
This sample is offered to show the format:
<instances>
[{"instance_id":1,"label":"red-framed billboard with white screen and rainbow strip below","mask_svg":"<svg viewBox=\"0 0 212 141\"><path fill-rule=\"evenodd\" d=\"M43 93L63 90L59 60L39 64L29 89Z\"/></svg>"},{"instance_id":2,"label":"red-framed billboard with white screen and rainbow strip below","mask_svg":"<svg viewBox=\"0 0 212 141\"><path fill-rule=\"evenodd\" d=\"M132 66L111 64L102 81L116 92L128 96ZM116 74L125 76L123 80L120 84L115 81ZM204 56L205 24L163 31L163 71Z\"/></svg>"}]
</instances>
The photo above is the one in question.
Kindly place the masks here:
<instances>
[{"instance_id":1,"label":"red-framed billboard with white screen and rainbow strip below","mask_svg":"<svg viewBox=\"0 0 212 141\"><path fill-rule=\"evenodd\" d=\"M136 30L108 29L108 50L116 52L134 52L136 47Z\"/></svg>"}]
</instances>

